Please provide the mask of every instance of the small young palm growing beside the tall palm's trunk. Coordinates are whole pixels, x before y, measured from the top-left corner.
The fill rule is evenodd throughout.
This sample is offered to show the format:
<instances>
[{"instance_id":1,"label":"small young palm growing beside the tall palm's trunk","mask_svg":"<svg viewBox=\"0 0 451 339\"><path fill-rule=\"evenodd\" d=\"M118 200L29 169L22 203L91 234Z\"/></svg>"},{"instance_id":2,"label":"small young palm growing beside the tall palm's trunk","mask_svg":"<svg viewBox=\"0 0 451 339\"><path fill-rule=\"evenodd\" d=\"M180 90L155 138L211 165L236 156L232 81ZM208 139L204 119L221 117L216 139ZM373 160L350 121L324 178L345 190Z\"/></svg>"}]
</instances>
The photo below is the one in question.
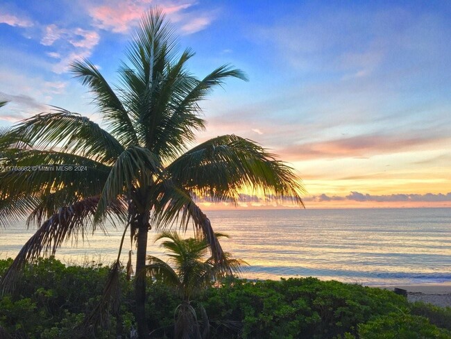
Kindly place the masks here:
<instances>
[{"instance_id":1,"label":"small young palm growing beside the tall palm's trunk","mask_svg":"<svg viewBox=\"0 0 451 339\"><path fill-rule=\"evenodd\" d=\"M216 238L226 235L215 233ZM182 304L177 308L177 319L174 327L175 338L200 338L201 331L198 326L196 310L192 306L194 297L199 295L203 288L212 286L225 276L241 272L244 261L230 258L228 253L223 254L221 264L208 256L209 245L204 238L182 239L176 232L164 231L155 241L164 240L161 247L169 254L169 263L155 256L147 256L148 275L173 287L180 297ZM208 330L205 309L200 305L204 320L204 331Z\"/></svg>"}]
</instances>

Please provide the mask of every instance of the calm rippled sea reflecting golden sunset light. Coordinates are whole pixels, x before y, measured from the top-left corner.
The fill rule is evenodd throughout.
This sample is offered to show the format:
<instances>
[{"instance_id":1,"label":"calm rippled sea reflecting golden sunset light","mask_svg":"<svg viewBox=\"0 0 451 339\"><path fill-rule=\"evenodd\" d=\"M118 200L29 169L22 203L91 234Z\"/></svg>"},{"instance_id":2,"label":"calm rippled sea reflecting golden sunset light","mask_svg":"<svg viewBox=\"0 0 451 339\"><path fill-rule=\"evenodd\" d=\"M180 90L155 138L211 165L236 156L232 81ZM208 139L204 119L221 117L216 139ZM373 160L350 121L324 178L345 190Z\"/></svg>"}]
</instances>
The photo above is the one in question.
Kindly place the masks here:
<instances>
[{"instance_id":1,"label":"calm rippled sea reflecting golden sunset light","mask_svg":"<svg viewBox=\"0 0 451 339\"><path fill-rule=\"evenodd\" d=\"M207 211L226 251L250 264L243 276L316 276L369 285L451 281L451 208ZM0 258L15 256L33 230L0 229ZM153 234L151 237L153 237ZM121 231L96 231L58 252L65 263L117 256ZM124 253L130 249L126 241ZM149 239L149 254L164 256ZM124 258L126 260L126 258Z\"/></svg>"}]
</instances>

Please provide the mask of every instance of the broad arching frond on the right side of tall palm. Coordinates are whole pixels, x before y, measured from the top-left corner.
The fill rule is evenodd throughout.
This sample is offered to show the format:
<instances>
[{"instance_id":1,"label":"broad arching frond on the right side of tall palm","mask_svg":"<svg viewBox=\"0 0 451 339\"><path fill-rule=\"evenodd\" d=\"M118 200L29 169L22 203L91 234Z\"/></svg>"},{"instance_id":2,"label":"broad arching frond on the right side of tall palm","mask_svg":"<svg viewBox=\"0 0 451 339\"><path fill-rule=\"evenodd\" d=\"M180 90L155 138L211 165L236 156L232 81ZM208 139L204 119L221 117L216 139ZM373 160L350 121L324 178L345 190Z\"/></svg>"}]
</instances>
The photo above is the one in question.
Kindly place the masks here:
<instances>
[{"instance_id":1,"label":"broad arching frond on the right side of tall palm","mask_svg":"<svg viewBox=\"0 0 451 339\"><path fill-rule=\"evenodd\" d=\"M288 165L251 140L223 135L194 147L167 167L190 195L233 201L246 189L303 206L303 186Z\"/></svg>"}]
</instances>

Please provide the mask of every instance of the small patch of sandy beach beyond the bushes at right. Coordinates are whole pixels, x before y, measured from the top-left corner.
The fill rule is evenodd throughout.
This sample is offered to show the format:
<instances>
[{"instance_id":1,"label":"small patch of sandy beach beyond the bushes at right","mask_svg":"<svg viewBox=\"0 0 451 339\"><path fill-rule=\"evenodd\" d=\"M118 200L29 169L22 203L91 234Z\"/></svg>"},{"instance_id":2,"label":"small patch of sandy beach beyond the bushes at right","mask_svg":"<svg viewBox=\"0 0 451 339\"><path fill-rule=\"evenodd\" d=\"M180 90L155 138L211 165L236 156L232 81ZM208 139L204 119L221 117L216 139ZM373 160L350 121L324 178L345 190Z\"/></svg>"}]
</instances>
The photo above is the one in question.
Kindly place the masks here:
<instances>
[{"instance_id":1,"label":"small patch of sandy beach beyond the bushes at right","mask_svg":"<svg viewBox=\"0 0 451 339\"><path fill-rule=\"evenodd\" d=\"M451 307L451 281L446 283L423 283L404 286L381 286L386 290L402 288L407 290L407 299L411 302L423 301L436 306Z\"/></svg>"}]
</instances>

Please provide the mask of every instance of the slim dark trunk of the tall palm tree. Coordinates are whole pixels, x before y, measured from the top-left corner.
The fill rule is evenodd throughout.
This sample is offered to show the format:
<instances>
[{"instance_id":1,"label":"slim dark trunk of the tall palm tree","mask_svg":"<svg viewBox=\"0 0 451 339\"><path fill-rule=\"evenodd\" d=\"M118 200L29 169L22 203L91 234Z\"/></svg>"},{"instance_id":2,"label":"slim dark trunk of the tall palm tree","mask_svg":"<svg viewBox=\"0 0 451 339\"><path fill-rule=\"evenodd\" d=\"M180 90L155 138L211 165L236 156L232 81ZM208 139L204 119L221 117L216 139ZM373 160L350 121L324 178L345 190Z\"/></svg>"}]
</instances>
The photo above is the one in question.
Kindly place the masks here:
<instances>
[{"instance_id":1,"label":"slim dark trunk of the tall palm tree","mask_svg":"<svg viewBox=\"0 0 451 339\"><path fill-rule=\"evenodd\" d=\"M147 213L145 213L147 214ZM149 229L148 217L139 215L137 220L137 250L136 250L136 275L135 275L135 301L136 322L139 339L150 338L146 322L146 249L147 234Z\"/></svg>"}]
</instances>

